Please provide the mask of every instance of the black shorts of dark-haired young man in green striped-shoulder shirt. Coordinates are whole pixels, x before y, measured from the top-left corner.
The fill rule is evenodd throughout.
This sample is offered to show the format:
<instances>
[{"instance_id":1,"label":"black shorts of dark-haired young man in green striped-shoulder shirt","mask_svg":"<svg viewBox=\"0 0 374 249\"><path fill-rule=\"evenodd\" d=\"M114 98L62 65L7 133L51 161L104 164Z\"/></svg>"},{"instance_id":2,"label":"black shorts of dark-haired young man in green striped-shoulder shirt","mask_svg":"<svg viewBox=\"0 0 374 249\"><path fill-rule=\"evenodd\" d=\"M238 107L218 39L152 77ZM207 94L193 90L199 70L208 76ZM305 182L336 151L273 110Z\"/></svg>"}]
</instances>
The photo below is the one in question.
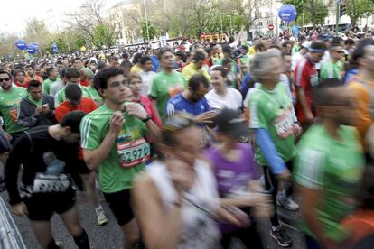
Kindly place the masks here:
<instances>
[{"instance_id":1,"label":"black shorts of dark-haired young man in green striped-shoulder shirt","mask_svg":"<svg viewBox=\"0 0 374 249\"><path fill-rule=\"evenodd\" d=\"M133 209L130 205L130 189L116 193L104 193L104 198L119 226L126 225L134 218Z\"/></svg>"}]
</instances>

